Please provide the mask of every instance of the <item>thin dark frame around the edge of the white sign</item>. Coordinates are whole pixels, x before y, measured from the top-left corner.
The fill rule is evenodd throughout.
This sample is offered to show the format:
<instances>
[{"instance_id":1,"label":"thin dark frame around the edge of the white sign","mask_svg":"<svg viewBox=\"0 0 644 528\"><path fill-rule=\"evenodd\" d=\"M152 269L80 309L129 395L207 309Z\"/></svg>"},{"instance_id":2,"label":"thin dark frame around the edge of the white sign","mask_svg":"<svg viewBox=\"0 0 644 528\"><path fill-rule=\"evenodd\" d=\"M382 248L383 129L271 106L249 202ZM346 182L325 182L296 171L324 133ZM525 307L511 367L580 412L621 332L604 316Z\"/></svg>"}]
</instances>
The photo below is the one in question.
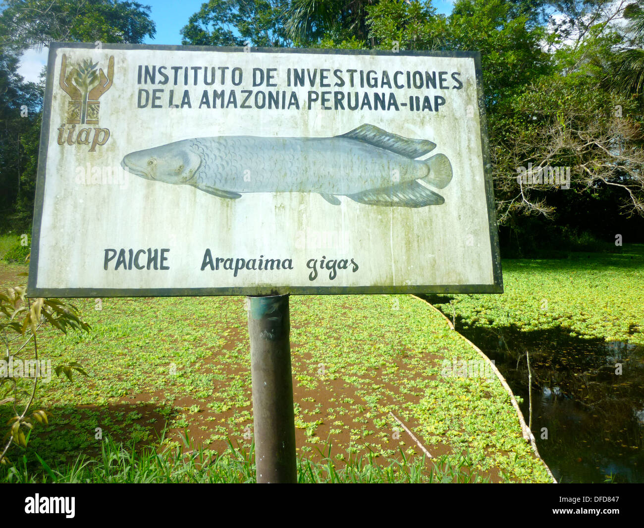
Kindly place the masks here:
<instances>
[{"instance_id":1,"label":"thin dark frame around the edge of the white sign","mask_svg":"<svg viewBox=\"0 0 644 528\"><path fill-rule=\"evenodd\" d=\"M480 122L480 139L482 146L484 187L488 209L489 242L491 247L491 265L493 284L430 284L424 286L252 286L223 288L37 288L37 271L39 262L39 242L43 220L43 202L45 188L45 171L47 150L50 139L52 114L53 83L55 81L55 58L60 48L95 49L89 43L51 43L48 59L48 76L44 97L43 122L38 159L36 183L32 253L29 269L28 295L30 297L187 297L206 295L328 295L328 294L407 294L407 293L503 293L500 252L498 246L497 218L493 195L491 163L489 161L488 127L485 113L485 101L482 89L482 74L479 52L390 52L379 50L328 50L299 48L251 48L252 53L271 54L332 54L332 55L393 55L413 57L455 57L470 58L475 64L477 83L478 110ZM212 46L163 46L144 44L104 44L102 50L182 50L187 52L227 52L244 53L244 48ZM51 177L51 176L50 176Z\"/></svg>"}]
</instances>

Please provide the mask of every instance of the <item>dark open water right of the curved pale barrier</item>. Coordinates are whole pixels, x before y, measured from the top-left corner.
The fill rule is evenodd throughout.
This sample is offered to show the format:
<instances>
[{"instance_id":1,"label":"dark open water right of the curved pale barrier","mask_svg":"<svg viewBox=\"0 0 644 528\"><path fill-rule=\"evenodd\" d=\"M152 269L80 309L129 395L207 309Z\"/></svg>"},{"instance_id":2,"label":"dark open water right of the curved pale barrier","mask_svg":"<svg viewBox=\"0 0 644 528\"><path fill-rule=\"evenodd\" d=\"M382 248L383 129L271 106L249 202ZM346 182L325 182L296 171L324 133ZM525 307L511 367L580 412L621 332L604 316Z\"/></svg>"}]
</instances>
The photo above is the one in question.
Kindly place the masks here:
<instances>
[{"instance_id":1,"label":"dark open water right of the curved pale barrier","mask_svg":"<svg viewBox=\"0 0 644 528\"><path fill-rule=\"evenodd\" d=\"M458 318L456 328L524 399L526 423L528 351L532 431L559 482L605 482L611 474L612 482L644 482L644 346L571 337L564 328L464 328Z\"/></svg>"}]
</instances>

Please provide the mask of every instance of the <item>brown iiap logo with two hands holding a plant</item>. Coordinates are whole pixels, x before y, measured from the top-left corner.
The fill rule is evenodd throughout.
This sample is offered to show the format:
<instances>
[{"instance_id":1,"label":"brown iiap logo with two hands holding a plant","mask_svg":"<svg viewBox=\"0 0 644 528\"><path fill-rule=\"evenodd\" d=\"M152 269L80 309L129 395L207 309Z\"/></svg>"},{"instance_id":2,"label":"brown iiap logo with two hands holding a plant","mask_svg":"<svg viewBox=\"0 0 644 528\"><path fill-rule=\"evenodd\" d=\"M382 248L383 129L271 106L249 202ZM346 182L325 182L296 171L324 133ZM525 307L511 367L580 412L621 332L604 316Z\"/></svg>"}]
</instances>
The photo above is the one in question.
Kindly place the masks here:
<instances>
[{"instance_id":1,"label":"brown iiap logo with two hands holding a plant","mask_svg":"<svg viewBox=\"0 0 644 528\"><path fill-rule=\"evenodd\" d=\"M59 84L69 95L65 122L58 128L59 145L90 145L90 152L108 142L109 129L99 126L76 128L77 125L99 124L100 97L109 90L114 79L114 55L108 60L108 73L98 69L99 63L85 59L70 66L62 55Z\"/></svg>"}]
</instances>

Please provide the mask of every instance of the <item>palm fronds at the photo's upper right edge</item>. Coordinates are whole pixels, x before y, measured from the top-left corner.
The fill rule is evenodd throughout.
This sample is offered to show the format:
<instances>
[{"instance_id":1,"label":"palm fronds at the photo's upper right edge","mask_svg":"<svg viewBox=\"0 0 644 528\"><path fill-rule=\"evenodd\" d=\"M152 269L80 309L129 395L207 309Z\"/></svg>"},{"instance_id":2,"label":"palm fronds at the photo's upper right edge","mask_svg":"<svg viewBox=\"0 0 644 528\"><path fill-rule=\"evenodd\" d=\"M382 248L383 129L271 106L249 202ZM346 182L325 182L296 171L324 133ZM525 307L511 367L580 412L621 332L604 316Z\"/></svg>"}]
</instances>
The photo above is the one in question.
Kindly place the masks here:
<instances>
[{"instance_id":1,"label":"palm fronds at the photo's upper right edge","mask_svg":"<svg viewBox=\"0 0 644 528\"><path fill-rule=\"evenodd\" d=\"M624 9L624 18L629 21L629 30L638 43L644 41L644 8L633 3ZM644 105L644 49L622 50L614 64L612 88L622 95L635 95Z\"/></svg>"}]
</instances>

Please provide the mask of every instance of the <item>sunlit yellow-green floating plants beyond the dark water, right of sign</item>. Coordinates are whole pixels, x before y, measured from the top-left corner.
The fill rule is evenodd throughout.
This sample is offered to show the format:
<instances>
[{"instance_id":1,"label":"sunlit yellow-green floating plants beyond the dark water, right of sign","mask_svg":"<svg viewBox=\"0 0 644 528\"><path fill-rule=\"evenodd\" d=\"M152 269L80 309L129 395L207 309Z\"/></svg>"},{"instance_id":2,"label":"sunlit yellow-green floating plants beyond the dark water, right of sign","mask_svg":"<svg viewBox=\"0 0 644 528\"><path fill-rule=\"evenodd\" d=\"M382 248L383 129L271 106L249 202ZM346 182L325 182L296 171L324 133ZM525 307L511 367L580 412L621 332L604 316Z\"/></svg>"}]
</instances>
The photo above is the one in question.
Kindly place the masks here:
<instances>
[{"instance_id":1,"label":"sunlit yellow-green floating plants beyond the dark water, right of sign","mask_svg":"<svg viewBox=\"0 0 644 528\"><path fill-rule=\"evenodd\" d=\"M503 260L503 295L434 296L464 327L562 327L573 337L644 344L644 246L569 259ZM450 306L451 300L451 306Z\"/></svg>"}]
</instances>

